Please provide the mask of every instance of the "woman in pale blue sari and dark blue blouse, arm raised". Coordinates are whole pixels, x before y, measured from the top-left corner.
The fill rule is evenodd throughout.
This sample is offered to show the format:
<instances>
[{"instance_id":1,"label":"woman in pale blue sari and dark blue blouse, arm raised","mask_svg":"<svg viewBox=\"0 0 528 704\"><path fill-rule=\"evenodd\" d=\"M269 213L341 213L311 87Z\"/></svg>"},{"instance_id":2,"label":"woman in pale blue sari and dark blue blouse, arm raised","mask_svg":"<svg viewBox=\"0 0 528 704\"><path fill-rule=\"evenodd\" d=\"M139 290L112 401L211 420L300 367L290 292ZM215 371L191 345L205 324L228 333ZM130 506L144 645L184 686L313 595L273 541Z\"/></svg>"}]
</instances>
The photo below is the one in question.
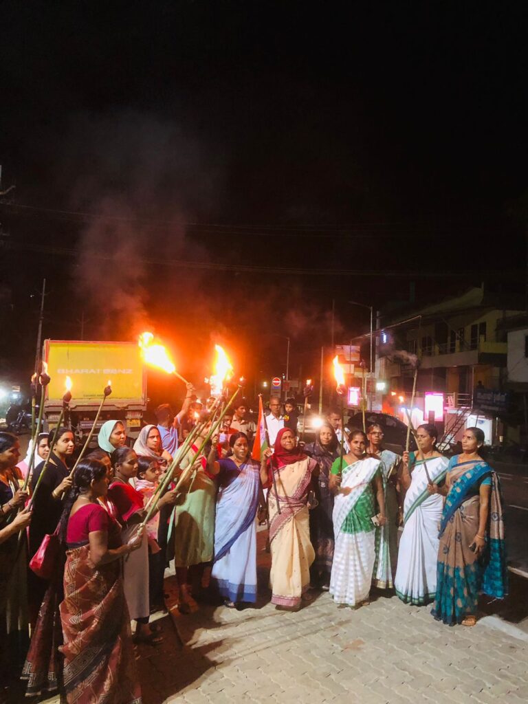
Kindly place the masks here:
<instances>
[{"instance_id":1,"label":"woman in pale blue sari and dark blue blouse, arm raised","mask_svg":"<svg viewBox=\"0 0 528 704\"><path fill-rule=\"evenodd\" d=\"M260 465L251 460L245 433L230 437L231 457L215 461L216 443L208 458L208 472L218 477L215 518L215 557L211 579L224 603L257 601L256 514L260 496Z\"/></svg>"}]
</instances>

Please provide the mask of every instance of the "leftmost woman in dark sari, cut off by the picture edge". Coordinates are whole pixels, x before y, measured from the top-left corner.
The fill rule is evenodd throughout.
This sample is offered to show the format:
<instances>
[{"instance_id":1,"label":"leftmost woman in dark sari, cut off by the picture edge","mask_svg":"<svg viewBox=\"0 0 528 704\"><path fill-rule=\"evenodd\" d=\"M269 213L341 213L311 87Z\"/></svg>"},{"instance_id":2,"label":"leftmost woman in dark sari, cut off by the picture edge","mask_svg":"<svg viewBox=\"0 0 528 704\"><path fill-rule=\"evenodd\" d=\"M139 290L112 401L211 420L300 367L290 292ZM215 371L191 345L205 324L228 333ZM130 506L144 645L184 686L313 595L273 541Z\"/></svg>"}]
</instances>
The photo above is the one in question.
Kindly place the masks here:
<instances>
[{"instance_id":1,"label":"leftmost woman in dark sari, cut off by the picture edge","mask_svg":"<svg viewBox=\"0 0 528 704\"><path fill-rule=\"evenodd\" d=\"M28 496L27 491L20 489L22 474L16 467L19 459L18 437L0 432L0 529L4 536L7 534L0 545L0 672L6 679L10 674L20 674L29 643L26 542L22 541L19 550L18 531L8 534L8 527Z\"/></svg>"}]
</instances>

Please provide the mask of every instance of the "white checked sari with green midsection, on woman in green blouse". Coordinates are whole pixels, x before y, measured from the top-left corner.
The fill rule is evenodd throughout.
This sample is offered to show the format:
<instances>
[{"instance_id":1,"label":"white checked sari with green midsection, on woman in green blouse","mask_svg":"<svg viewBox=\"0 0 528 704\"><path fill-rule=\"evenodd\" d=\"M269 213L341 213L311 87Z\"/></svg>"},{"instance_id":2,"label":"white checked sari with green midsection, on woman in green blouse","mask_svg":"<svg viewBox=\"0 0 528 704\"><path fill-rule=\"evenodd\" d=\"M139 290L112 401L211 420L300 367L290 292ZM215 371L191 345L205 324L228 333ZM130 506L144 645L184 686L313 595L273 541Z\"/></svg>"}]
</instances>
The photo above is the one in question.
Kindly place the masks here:
<instances>
[{"instance_id":1,"label":"white checked sari with green midsection, on woman in green blouse","mask_svg":"<svg viewBox=\"0 0 528 704\"><path fill-rule=\"evenodd\" d=\"M339 474L341 460L332 465L332 474ZM341 489L334 500L335 550L330 577L330 593L338 604L356 606L365 601L372 584L376 558L376 514L372 480L382 471L379 460L367 457L344 467Z\"/></svg>"}]
</instances>

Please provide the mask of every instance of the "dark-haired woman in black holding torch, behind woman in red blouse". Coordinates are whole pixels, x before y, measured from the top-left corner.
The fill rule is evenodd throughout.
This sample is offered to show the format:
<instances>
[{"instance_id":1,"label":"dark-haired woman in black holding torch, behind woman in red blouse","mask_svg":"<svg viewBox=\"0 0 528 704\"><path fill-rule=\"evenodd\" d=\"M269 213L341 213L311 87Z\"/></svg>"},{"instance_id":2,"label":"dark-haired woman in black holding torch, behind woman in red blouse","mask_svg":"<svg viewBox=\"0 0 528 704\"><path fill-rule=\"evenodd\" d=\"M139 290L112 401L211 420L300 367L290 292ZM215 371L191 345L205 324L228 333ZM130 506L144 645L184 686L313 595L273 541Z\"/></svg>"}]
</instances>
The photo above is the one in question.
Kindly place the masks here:
<instances>
[{"instance_id":1,"label":"dark-haired woman in black holding torch, behind woman in red blouse","mask_svg":"<svg viewBox=\"0 0 528 704\"><path fill-rule=\"evenodd\" d=\"M33 471L31 481L32 493L37 486L41 472L44 471L37 494L32 499L33 517L30 525L30 559L40 547L46 534L52 534L58 525L63 510L62 497L65 491L72 486L70 470L66 463L70 460L75 449L73 432L66 427L55 428L49 434L50 443L54 450L49 455L48 466L44 471L45 462L41 462ZM30 623L32 627L37 621L39 608L48 588L49 582L37 577L34 572L29 573L29 603Z\"/></svg>"}]
</instances>

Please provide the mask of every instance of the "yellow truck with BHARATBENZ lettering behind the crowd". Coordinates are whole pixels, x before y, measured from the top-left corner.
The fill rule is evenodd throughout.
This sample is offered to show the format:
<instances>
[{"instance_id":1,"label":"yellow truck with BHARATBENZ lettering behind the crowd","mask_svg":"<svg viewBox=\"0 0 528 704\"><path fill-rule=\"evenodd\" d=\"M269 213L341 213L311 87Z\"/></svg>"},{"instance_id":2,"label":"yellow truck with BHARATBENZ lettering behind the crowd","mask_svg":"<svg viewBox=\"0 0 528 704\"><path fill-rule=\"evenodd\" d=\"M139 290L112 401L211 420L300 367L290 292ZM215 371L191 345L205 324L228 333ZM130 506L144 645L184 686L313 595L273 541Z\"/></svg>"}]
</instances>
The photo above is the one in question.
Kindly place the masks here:
<instances>
[{"instance_id":1,"label":"yellow truck with BHARATBENZ lettering behind the crowd","mask_svg":"<svg viewBox=\"0 0 528 704\"><path fill-rule=\"evenodd\" d=\"M137 343L46 340L43 356L51 377L46 388L44 427L52 429L57 424L66 377L70 377L72 400L67 422L78 441L88 435L108 383L112 393L103 405L94 438L110 418L121 420L127 436L137 438L146 409L146 373Z\"/></svg>"}]
</instances>

